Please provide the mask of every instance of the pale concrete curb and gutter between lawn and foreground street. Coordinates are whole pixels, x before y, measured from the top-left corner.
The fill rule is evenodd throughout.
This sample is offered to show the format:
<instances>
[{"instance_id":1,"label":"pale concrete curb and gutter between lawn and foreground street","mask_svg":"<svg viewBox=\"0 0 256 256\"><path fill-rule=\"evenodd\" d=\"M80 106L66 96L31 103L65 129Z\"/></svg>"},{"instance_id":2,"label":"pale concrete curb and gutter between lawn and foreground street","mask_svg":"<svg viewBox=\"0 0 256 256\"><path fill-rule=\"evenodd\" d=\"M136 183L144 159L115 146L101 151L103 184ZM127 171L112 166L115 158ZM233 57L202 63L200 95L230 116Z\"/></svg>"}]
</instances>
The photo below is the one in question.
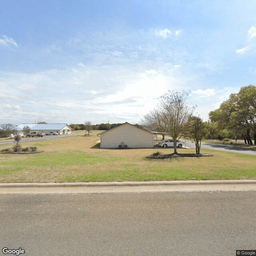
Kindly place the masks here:
<instances>
[{"instance_id":1,"label":"pale concrete curb and gutter between lawn and foreground street","mask_svg":"<svg viewBox=\"0 0 256 256\"><path fill-rule=\"evenodd\" d=\"M186 180L148 182L2 183L0 194L192 192L256 190L256 180Z\"/></svg>"}]
</instances>

